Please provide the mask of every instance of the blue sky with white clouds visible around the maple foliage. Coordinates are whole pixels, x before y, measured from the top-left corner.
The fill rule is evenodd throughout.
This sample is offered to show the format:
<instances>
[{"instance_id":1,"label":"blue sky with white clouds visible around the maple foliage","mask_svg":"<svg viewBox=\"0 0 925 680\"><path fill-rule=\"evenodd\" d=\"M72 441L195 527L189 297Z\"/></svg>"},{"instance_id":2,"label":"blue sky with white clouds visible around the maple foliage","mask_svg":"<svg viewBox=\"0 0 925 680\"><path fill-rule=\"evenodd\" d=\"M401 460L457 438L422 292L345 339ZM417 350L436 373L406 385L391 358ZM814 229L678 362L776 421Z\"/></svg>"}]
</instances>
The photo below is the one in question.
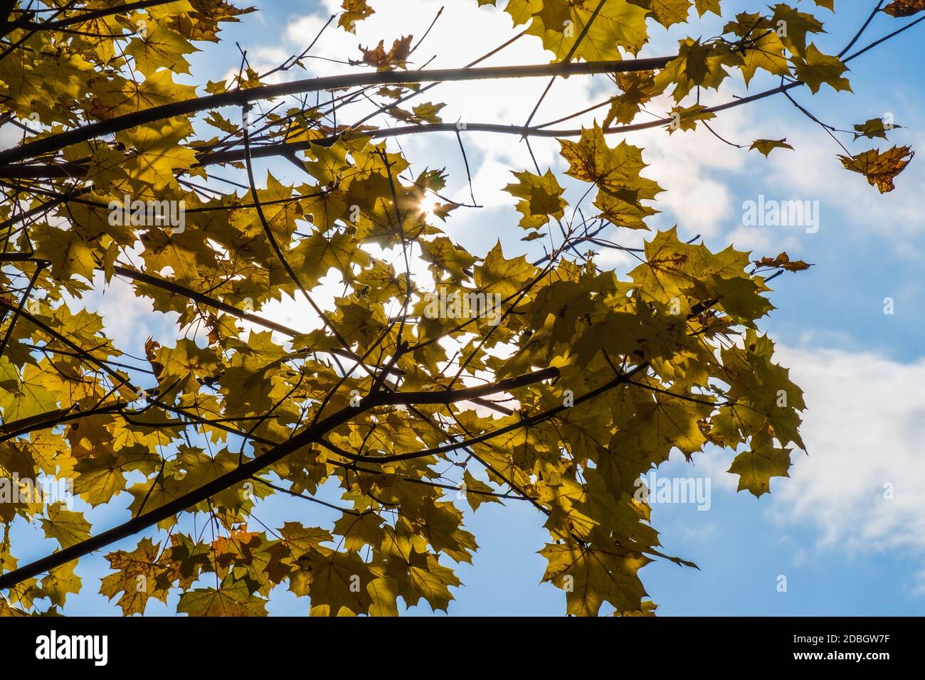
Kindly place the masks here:
<instances>
[{"instance_id":1,"label":"blue sky with white clouds visible around the maple foliage","mask_svg":"<svg viewBox=\"0 0 925 680\"><path fill-rule=\"evenodd\" d=\"M873 2L836 0L839 11L820 9L829 31L816 38L823 52L840 51L866 18ZM356 43L387 43L400 33L420 35L440 3L378 0L371 3L377 14L360 24L357 36L335 29L319 41L317 53L347 58L357 56ZM441 18L420 48L427 58L437 55L432 67L460 66L487 52L514 34L510 19L498 11L475 10L475 0L447 3ZM803 5L812 6L804 2ZM258 14L222 33L225 43L203 46L193 56L195 81L217 80L237 68L240 56L235 42L248 50L261 70L301 52L331 13L331 3L314 0L286 3L259 2ZM724 16L754 9L755 2L724 0ZM394 10L398 10L397 12ZM908 19L906 19L908 20ZM881 16L858 45L892 31L903 20ZM702 23L705 37L715 35L717 22ZM337 34L335 34L337 33ZM668 54L676 31L653 27L652 43L643 56ZM908 31L851 63L849 77L854 93L823 89L810 97L805 89L796 99L820 119L839 128L890 113L904 126L894 130L892 143L925 148L922 130L925 117L925 60L919 43L925 24ZM544 57L536 39L516 43L490 64L533 63ZM233 66L232 66L233 65ZM310 61L313 74L342 72L337 64ZM291 73L304 77L303 73ZM554 87L537 120L559 117L606 96L605 81L570 79ZM727 81L722 94L711 94L709 103L727 101L746 93L740 81ZM749 92L774 84L753 81ZM434 101L446 101L445 120L523 122L545 87L545 81L470 83L441 86ZM662 113L658 107L654 111ZM592 117L583 117L586 125ZM567 127L573 127L571 123ZM841 149L818 126L778 95L758 104L733 109L713 121L723 137L748 144L758 138L786 137L796 150L775 151L766 160L757 152L734 149L707 130L676 133L650 130L628 137L646 149L651 164L648 175L667 190L660 208L664 212L652 226L678 224L683 235L701 234L714 249L730 242L756 257L787 250L792 257L814 263L808 272L776 278L771 300L778 308L765 319L763 329L778 343L780 361L789 365L797 384L806 390L809 405L804 439L808 456L794 455L791 478L775 478L771 496L760 500L736 493L737 477L725 474L732 455L708 451L695 464L683 459L663 465L660 476L700 476L712 481L711 507L697 511L691 504L657 505L653 524L662 543L700 566L700 570L653 563L642 571L643 582L661 614L922 614L925 613L925 447L920 423L925 421L922 266L925 264L925 215L920 200L925 179L922 161L915 159L897 181L895 192L881 195L859 175L841 169L836 155ZM496 239L505 253L524 250L510 196L500 190L510 179L508 170L532 167L516 138L469 134L465 137L474 173L475 197L486 207L450 218L447 230L473 252L484 252ZM843 137L847 145L850 136ZM611 142L615 143L617 138ZM882 142L879 141L879 142ZM402 142L413 167L439 167L450 171L450 195L467 197L462 158L452 135L428 136ZM854 153L875 146L861 140L849 146ZM883 144L881 143L883 147ZM554 142L537 142L540 166L561 171ZM290 167L270 163L279 178L292 177ZM258 172L258 176L262 173ZM565 183L576 199L580 189ZM741 205L759 194L781 200L820 202L820 230L746 228ZM503 227L501 227L503 225ZM638 245L637 233L611 237L624 245ZM608 254L602 264L625 271L628 262ZM894 315L883 314L884 298L894 300ZM170 337L171 320L133 303L130 292L114 289L93 302L107 318L123 310L113 332L119 346L138 353L147 335ZM134 310L125 312L125 307ZM134 306L132 306L134 305ZM303 321L298 305L279 305L280 320ZM302 326L305 325L304 322ZM680 458L680 457L679 457ZM884 500L882 485L894 484L893 500ZM128 497L119 497L128 504ZM329 523L333 513L293 501L275 500L259 508L262 521L280 525L298 519L306 525ZM122 509L97 509L89 513L96 530L125 518ZM553 614L564 611L564 596L551 586L538 585L545 560L536 554L546 541L536 511L525 504L486 505L469 513L467 528L481 547L473 565L461 565L463 587L455 590L450 614ZM23 529L24 530L24 529ZM130 549L136 540L119 544ZM31 543L30 555L38 556L49 542ZM68 600L69 614L114 614L118 610L95 594L96 579L105 573L100 556L84 558L78 574L84 592ZM786 592L778 591L785 575ZM173 611L152 601L147 613ZM272 613L303 614L307 600L296 600L277 588L269 606ZM427 614L429 608L414 608ZM606 609L605 609L606 612Z\"/></svg>"}]
</instances>

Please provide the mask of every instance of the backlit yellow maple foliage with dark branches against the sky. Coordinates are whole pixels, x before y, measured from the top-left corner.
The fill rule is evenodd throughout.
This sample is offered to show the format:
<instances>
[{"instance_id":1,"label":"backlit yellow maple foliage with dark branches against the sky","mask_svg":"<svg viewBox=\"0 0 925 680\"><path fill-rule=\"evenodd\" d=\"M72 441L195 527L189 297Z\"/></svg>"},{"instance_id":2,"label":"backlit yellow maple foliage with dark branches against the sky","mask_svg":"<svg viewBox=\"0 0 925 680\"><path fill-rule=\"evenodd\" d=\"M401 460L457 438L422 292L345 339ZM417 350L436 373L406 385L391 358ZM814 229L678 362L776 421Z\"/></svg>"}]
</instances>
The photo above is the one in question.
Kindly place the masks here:
<instances>
[{"instance_id":1,"label":"backlit yellow maple foliage with dark branches against the sky","mask_svg":"<svg viewBox=\"0 0 925 680\"><path fill-rule=\"evenodd\" d=\"M267 73L244 56L228 80L193 86L179 78L188 57L253 8L0 3L0 121L19 138L0 151L0 477L69 479L80 499L0 502L0 614L59 612L90 586L77 560L101 549L111 573L93 587L125 614L173 592L179 612L263 615L277 586L313 614L396 614L422 600L446 610L461 585L453 565L477 549L462 508L496 502L536 508L549 531L536 546L543 580L565 591L565 612L651 614L639 569L690 563L661 549L640 476L708 445L729 451L729 472L756 496L787 476L804 402L759 321L769 278L808 265L650 230L663 190L643 150L617 135L699 133L765 96L850 90L846 64L868 51L857 43L867 24L828 55L813 40L833 0L756 3L722 15L721 36L637 58L657 24L689 21L700 35L721 0L497 4L523 31L512 39L542 43L551 63L421 68L413 36L388 36L362 46L346 75L290 78L309 45ZM354 31L385 5L344 0L326 30ZM881 8L900 18L925 5ZM780 85L699 104L758 71ZM457 126L422 98L448 80L473 80L477 97L477 80L595 73L610 78L609 99L581 130L532 116ZM637 117L660 95L671 111ZM893 127L874 118L854 134L885 139ZM442 170L411 172L394 143L450 133L462 147L472 130L560 140L568 182L512 168L519 223L497 229L523 235L523 252L454 242L441 226L472 206L443 196ZM888 192L911 157L905 146L845 150L841 163ZM254 171L270 158L295 179ZM246 181L222 182L232 169ZM832 171L843 171L835 159ZM584 184L586 199L567 199L561 181ZM604 229L645 235L627 276L596 262L623 247ZM544 256L528 258L540 239ZM107 335L81 301L114 279L175 314L175 340ZM317 302L331 291L333 303ZM425 313L434 295L473 304ZM300 328L262 314L289 298ZM316 521L263 525L274 495ZM121 524L92 526L81 512L110 503ZM57 550L15 543L17 523ZM108 548L129 537L133 550Z\"/></svg>"}]
</instances>

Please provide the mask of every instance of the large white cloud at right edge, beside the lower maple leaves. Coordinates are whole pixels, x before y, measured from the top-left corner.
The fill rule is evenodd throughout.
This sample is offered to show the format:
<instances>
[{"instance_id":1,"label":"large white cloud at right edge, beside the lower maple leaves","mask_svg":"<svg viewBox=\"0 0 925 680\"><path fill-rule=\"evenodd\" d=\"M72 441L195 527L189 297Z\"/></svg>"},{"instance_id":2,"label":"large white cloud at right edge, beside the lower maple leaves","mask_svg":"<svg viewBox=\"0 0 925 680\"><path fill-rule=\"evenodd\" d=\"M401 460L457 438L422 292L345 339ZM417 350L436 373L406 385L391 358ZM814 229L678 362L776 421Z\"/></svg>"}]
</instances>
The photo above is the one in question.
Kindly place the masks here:
<instances>
[{"instance_id":1,"label":"large white cloud at right edge, beside the lower maple leaves","mask_svg":"<svg viewBox=\"0 0 925 680\"><path fill-rule=\"evenodd\" d=\"M774 489L773 515L818 526L824 545L925 550L925 359L787 348L780 357L806 391L808 455L795 454L791 479Z\"/></svg>"}]
</instances>

